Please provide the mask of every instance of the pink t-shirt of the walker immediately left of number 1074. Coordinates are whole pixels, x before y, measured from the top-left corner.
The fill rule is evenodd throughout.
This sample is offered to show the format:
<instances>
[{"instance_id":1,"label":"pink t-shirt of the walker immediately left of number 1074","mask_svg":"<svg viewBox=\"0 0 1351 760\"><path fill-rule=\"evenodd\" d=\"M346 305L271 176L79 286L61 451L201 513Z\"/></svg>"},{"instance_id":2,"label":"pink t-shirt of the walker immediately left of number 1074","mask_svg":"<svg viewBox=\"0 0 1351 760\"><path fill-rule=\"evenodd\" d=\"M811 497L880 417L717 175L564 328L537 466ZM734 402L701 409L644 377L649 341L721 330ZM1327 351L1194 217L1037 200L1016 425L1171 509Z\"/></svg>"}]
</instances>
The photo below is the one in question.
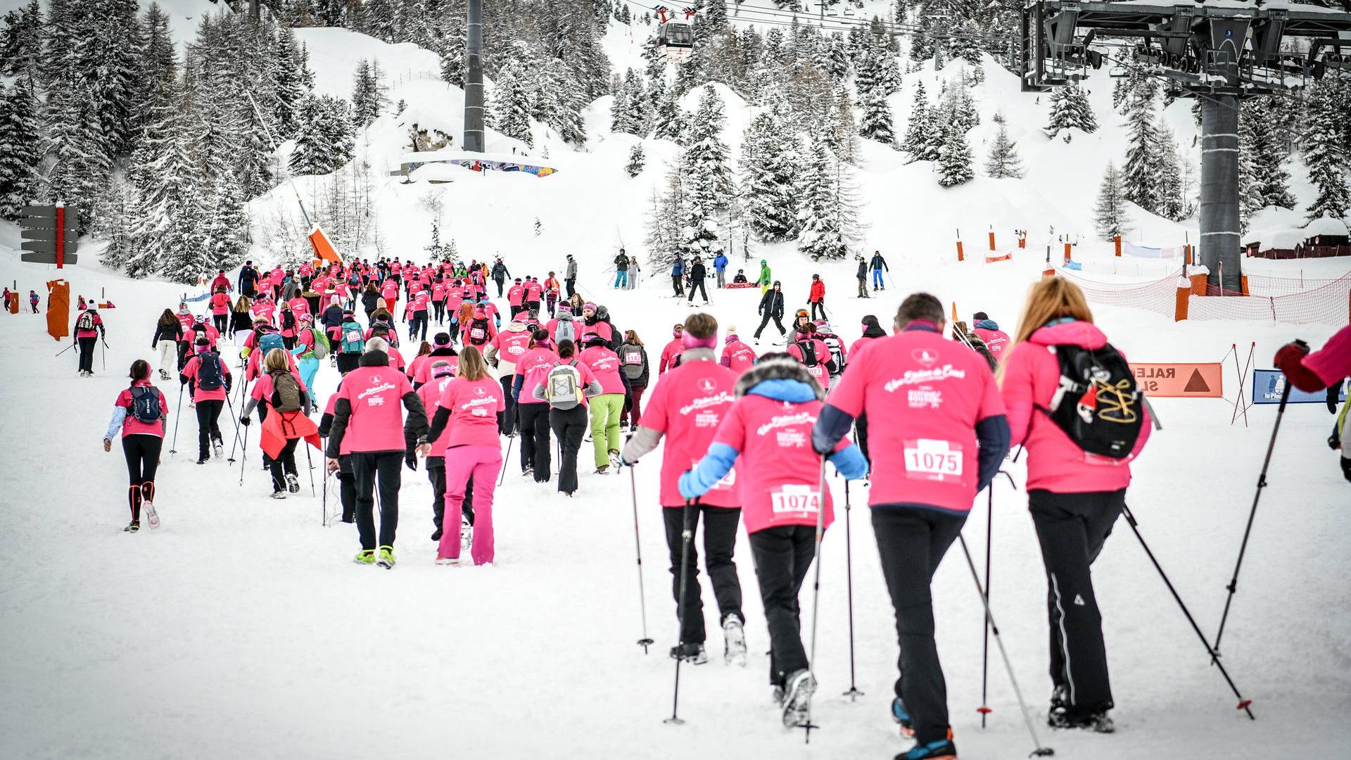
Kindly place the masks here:
<instances>
[{"instance_id":1,"label":"pink t-shirt of the walker immediately left of number 1074","mask_svg":"<svg viewBox=\"0 0 1351 760\"><path fill-rule=\"evenodd\" d=\"M662 375L647 398L642 426L666 434L662 453L661 502L680 507L680 476L698 464L732 403L736 373L716 361L692 361ZM736 469L704 494L703 503L715 507L740 506Z\"/></svg>"}]
</instances>

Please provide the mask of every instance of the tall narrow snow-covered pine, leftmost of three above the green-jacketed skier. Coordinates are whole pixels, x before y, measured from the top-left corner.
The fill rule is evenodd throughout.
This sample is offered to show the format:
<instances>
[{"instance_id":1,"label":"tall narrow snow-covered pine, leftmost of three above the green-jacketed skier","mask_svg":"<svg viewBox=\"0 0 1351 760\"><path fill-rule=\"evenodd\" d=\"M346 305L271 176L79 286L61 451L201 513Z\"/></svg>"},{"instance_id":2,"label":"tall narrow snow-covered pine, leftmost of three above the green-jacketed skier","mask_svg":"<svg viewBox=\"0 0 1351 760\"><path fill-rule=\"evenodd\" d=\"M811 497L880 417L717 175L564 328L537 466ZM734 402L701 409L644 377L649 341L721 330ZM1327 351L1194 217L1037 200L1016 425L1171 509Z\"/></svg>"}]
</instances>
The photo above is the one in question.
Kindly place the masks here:
<instances>
[{"instance_id":1,"label":"tall narrow snow-covered pine, leftmost of three above the green-jacketed skier","mask_svg":"<svg viewBox=\"0 0 1351 760\"><path fill-rule=\"evenodd\" d=\"M685 250L703 250L701 241L717 241L717 212L732 196L731 150L723 143L723 99L712 85L700 92L698 108L686 126L681 170L685 177L685 224L690 229Z\"/></svg>"}]
</instances>

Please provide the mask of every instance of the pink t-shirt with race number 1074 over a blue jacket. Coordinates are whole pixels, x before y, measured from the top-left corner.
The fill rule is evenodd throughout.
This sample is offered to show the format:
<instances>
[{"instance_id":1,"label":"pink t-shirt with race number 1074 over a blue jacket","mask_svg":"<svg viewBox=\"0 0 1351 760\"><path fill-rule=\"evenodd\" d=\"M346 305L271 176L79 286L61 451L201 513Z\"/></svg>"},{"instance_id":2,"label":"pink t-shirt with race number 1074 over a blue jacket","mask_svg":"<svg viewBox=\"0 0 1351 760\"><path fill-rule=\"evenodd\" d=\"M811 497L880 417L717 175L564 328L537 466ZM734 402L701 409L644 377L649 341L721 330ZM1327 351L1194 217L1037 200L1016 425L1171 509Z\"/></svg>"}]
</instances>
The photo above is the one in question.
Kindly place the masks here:
<instances>
[{"instance_id":1,"label":"pink t-shirt with race number 1074 over a blue jacket","mask_svg":"<svg viewBox=\"0 0 1351 760\"><path fill-rule=\"evenodd\" d=\"M816 525L820 511L821 457L812 450L812 427L821 402L801 404L742 396L713 435L739 452L742 518L746 533L781 525ZM646 417L646 412L644 412ZM840 438L835 450L850 446ZM835 519L825 490L824 525Z\"/></svg>"}]
</instances>

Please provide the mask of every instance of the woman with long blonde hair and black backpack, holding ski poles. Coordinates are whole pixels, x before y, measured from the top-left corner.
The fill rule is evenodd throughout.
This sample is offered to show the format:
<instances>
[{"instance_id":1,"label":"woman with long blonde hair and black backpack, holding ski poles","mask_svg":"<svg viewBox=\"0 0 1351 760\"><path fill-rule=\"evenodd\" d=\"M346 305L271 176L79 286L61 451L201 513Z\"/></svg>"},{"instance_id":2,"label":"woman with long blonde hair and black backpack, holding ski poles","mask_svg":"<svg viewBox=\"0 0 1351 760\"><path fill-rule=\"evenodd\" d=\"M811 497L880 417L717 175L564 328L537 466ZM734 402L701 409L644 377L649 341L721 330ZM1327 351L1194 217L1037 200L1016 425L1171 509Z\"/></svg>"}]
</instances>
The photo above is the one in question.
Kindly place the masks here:
<instances>
[{"instance_id":1,"label":"woman with long blonde hair and black backpack, holding ski poles","mask_svg":"<svg viewBox=\"0 0 1351 760\"><path fill-rule=\"evenodd\" d=\"M1090 567L1125 504L1129 461L1148 440L1150 418L1142 396L1115 398L1120 422L1140 423L1133 446L1123 446L1119 458L1089 454L1070 438L1050 410L1063 395L1061 357L1084 352L1100 364L1124 364L1093 325L1084 292L1062 277L1046 277L1028 292L1000 377L1011 440L1027 448L1028 511L1046 563L1054 684L1047 722L1111 733L1112 687ZM1109 399L1096 395L1094 403L1113 403Z\"/></svg>"}]
</instances>

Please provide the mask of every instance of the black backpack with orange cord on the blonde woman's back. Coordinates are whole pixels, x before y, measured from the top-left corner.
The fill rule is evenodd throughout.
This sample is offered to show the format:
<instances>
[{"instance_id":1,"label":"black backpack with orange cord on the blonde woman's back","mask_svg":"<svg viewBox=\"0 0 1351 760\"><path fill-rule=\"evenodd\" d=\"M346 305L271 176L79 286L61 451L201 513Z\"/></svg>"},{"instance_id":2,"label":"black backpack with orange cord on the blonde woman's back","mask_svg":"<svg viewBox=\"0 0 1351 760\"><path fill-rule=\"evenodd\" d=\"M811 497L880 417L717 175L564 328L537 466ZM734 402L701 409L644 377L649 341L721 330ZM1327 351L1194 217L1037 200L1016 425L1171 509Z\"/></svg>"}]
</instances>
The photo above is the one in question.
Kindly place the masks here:
<instances>
[{"instance_id":1,"label":"black backpack with orange cord on the blonde woman's back","mask_svg":"<svg viewBox=\"0 0 1351 760\"><path fill-rule=\"evenodd\" d=\"M1131 456L1144 425L1144 391L1111 343L1089 350L1055 346L1061 385L1038 407L1086 453L1115 460Z\"/></svg>"}]
</instances>

